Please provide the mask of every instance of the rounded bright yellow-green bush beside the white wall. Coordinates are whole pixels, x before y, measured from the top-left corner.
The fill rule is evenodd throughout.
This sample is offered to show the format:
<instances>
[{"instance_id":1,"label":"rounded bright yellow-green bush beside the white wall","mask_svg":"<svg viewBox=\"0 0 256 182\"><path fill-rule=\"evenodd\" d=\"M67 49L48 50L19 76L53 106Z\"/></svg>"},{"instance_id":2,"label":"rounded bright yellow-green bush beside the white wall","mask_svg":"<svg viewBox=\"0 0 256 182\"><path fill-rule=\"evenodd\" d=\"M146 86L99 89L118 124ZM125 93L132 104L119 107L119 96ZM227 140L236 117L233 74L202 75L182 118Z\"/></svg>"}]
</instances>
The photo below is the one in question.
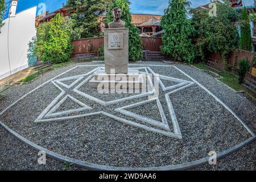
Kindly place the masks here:
<instances>
[{"instance_id":1,"label":"rounded bright yellow-green bush beside the white wall","mask_svg":"<svg viewBox=\"0 0 256 182\"><path fill-rule=\"evenodd\" d=\"M36 33L36 56L43 62L68 61L73 49L70 28L60 14L49 23L40 24Z\"/></svg>"}]
</instances>

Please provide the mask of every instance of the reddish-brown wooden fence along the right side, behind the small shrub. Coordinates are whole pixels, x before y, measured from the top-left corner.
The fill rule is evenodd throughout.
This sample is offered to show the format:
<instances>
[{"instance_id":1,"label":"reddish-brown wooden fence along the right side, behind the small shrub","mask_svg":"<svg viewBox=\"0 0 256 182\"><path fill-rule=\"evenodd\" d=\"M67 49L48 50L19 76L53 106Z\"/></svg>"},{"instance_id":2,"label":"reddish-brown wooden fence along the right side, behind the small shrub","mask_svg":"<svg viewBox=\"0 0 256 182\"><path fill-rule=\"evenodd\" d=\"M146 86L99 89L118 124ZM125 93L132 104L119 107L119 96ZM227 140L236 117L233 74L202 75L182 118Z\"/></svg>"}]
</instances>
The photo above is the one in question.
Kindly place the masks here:
<instances>
[{"instance_id":1,"label":"reddish-brown wooden fence along the right side, behind the small shrub","mask_svg":"<svg viewBox=\"0 0 256 182\"><path fill-rule=\"evenodd\" d=\"M253 52L243 51L243 50L237 50L233 52L228 57L228 65L230 66L230 71L233 73L237 73L237 68L239 67L240 60L246 57L246 59L251 63L251 60L253 59ZM208 55L208 65L211 67L220 69L221 71L224 71L225 65L222 63L222 58L220 54L216 53L210 53ZM250 68L250 72L246 74L246 79L251 81L256 81L256 77L254 77L251 73L253 70L253 65Z\"/></svg>"}]
</instances>

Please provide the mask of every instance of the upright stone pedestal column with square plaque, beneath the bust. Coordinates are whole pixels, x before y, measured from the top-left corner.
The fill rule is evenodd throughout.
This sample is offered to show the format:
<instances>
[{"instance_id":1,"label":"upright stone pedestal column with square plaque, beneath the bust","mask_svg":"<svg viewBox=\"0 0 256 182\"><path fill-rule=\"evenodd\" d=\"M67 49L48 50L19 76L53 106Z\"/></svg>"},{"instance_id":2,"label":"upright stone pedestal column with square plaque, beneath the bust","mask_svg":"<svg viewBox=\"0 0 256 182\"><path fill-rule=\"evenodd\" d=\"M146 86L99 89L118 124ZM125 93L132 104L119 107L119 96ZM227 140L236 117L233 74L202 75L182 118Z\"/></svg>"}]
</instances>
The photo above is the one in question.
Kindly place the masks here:
<instances>
[{"instance_id":1,"label":"upright stone pedestal column with square plaque, beneath the bust","mask_svg":"<svg viewBox=\"0 0 256 182\"><path fill-rule=\"evenodd\" d=\"M128 73L129 28L109 28L104 30L105 72L115 69L115 74Z\"/></svg>"}]
</instances>

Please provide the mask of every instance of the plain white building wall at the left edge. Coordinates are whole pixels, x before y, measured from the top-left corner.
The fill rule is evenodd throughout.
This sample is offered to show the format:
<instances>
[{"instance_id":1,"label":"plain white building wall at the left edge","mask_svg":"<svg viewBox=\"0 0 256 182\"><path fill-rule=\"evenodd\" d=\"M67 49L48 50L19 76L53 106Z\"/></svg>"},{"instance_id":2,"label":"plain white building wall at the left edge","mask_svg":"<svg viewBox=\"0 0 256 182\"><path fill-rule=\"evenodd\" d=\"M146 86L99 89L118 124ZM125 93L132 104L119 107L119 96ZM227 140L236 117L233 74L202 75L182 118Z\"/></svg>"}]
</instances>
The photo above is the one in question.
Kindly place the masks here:
<instances>
[{"instance_id":1,"label":"plain white building wall at the left edge","mask_svg":"<svg viewBox=\"0 0 256 182\"><path fill-rule=\"evenodd\" d=\"M36 7L31 7L3 21L5 25L0 34L0 80L28 67L27 49L28 43L36 35L35 17Z\"/></svg>"}]
</instances>

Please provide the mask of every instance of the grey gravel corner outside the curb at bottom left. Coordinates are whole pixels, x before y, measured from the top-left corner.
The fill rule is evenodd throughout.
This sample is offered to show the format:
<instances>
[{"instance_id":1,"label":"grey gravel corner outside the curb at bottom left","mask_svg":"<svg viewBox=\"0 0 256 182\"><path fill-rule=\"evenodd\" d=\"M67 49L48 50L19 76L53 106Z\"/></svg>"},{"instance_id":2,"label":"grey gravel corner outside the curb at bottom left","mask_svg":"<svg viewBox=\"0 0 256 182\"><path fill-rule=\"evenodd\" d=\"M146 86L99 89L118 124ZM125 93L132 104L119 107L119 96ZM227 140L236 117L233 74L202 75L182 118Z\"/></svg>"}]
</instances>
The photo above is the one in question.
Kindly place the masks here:
<instances>
[{"instance_id":1,"label":"grey gravel corner outside the curb at bottom left","mask_svg":"<svg viewBox=\"0 0 256 182\"><path fill-rule=\"evenodd\" d=\"M0 171L84 170L74 166L68 167L67 164L51 158L46 158L46 165L39 165L37 162L39 158L38 152L24 145L2 127L0 127L0 146Z\"/></svg>"}]
</instances>

